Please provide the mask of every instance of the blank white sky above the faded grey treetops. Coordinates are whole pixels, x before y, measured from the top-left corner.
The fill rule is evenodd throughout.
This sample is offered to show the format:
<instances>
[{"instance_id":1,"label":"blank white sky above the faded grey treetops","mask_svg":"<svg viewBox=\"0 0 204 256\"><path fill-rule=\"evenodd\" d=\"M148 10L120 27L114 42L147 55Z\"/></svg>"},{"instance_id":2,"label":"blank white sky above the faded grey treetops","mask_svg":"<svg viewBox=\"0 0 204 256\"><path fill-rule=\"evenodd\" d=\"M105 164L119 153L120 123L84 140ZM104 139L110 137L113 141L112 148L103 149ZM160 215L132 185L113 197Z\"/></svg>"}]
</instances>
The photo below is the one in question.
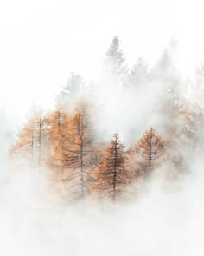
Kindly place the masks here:
<instances>
[{"instance_id":1,"label":"blank white sky above the faded grey treetops","mask_svg":"<svg viewBox=\"0 0 204 256\"><path fill-rule=\"evenodd\" d=\"M0 101L19 116L49 103L70 71L92 77L112 37L128 62L156 61L174 37L177 66L192 74L204 61L204 3L184 0L1 0Z\"/></svg>"}]
</instances>

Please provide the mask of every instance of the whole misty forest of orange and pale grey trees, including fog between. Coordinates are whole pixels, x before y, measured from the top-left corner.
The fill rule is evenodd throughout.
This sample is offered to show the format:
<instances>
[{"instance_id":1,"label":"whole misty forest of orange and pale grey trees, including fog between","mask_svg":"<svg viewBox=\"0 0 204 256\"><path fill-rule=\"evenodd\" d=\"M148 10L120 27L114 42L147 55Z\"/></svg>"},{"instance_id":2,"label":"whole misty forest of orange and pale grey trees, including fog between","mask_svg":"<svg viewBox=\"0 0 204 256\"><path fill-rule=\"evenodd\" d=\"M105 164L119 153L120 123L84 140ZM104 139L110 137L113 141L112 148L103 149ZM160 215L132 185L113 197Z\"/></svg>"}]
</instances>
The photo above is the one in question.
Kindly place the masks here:
<instances>
[{"instance_id":1,"label":"whole misty forest of orange and pale grey trees, including fog between","mask_svg":"<svg viewBox=\"0 0 204 256\"><path fill-rule=\"evenodd\" d=\"M113 37L97 78L72 72L54 107L32 106L16 133L4 132L15 173L45 174L47 194L93 206L137 205L154 177L174 187L193 174L204 150L204 68L182 78L174 47L130 67Z\"/></svg>"}]
</instances>

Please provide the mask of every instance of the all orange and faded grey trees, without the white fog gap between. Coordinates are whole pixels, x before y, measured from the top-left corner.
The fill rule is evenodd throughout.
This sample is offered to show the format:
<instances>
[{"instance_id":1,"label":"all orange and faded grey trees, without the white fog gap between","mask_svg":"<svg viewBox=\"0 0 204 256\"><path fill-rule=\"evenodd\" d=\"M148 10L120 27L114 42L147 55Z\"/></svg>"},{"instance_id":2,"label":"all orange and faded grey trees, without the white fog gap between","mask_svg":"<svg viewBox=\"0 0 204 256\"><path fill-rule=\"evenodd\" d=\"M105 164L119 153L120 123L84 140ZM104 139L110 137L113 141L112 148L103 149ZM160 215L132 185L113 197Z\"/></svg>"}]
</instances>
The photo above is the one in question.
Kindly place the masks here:
<instances>
[{"instance_id":1,"label":"all orange and faded grey trees, without the white fog gap between","mask_svg":"<svg viewBox=\"0 0 204 256\"><path fill-rule=\"evenodd\" d=\"M35 113L10 149L13 161L37 167L39 171L48 169L54 186L63 184L61 193L71 200L87 195L122 200L130 184L146 179L164 164L174 175L187 172L189 148L198 147L203 135L201 108L182 97L179 91L182 81L168 50L152 69L143 58L128 69L115 36L105 56L105 74L109 74L110 83L124 92L143 86L150 89L156 82L163 84L164 97L159 98L163 136L150 127L139 140L131 139L129 147L124 147L118 133L110 141L98 140L98 122L93 110L99 106L92 105L87 97L85 100L88 86L81 75L72 73L56 97L55 109ZM188 152L183 150L187 147Z\"/></svg>"}]
</instances>

